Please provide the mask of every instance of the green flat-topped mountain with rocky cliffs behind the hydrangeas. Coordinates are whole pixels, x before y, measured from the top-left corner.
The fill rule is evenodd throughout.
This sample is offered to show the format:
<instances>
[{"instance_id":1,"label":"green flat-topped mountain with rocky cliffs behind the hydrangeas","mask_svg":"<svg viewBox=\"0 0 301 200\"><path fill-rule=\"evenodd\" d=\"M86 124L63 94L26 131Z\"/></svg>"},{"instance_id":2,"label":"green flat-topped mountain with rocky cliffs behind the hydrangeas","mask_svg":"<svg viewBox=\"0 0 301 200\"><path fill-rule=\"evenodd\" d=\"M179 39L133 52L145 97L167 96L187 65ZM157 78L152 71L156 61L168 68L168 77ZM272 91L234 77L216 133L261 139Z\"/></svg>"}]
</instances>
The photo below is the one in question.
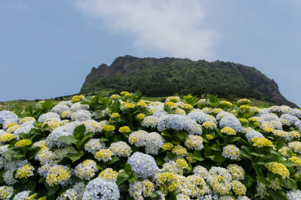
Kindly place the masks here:
<instances>
[{"instance_id":1,"label":"green flat-topped mountain with rocky cliffs behind the hydrangeas","mask_svg":"<svg viewBox=\"0 0 301 200\"><path fill-rule=\"evenodd\" d=\"M297 107L280 93L277 83L255 67L233 62L188 58L139 58L130 55L115 58L108 66L93 67L80 93L113 88L116 92L139 89L146 96L175 93L219 97L247 97Z\"/></svg>"}]
</instances>

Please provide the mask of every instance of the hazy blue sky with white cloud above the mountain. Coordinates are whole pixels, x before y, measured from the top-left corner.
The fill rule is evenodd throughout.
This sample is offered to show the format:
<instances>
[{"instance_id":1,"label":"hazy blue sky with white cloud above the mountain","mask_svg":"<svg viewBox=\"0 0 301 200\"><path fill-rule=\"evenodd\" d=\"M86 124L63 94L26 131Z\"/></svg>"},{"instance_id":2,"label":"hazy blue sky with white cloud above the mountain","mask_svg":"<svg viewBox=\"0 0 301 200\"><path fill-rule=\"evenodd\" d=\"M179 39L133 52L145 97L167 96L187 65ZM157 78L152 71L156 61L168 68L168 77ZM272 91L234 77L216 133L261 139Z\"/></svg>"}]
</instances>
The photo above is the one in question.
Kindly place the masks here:
<instances>
[{"instance_id":1,"label":"hazy blue sky with white cloud above the mountain","mask_svg":"<svg viewBox=\"0 0 301 200\"><path fill-rule=\"evenodd\" d=\"M1 0L0 100L77 93L117 56L254 66L301 106L298 0Z\"/></svg>"}]
</instances>

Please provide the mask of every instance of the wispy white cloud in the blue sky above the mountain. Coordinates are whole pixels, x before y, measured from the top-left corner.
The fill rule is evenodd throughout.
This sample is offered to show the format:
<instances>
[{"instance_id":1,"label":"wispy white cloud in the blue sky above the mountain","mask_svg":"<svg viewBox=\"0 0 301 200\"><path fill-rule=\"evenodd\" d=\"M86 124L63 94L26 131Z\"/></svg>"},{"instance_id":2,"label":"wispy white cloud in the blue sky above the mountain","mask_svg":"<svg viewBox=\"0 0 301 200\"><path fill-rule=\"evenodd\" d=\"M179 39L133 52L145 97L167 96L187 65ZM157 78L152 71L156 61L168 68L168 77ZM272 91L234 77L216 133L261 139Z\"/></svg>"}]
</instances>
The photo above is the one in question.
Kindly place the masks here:
<instances>
[{"instance_id":1,"label":"wispy white cloud in the blue sky above the mountain","mask_svg":"<svg viewBox=\"0 0 301 200\"><path fill-rule=\"evenodd\" d=\"M137 50L195 60L213 56L217 34L205 27L199 0L79 0L77 7L132 38Z\"/></svg>"}]
</instances>

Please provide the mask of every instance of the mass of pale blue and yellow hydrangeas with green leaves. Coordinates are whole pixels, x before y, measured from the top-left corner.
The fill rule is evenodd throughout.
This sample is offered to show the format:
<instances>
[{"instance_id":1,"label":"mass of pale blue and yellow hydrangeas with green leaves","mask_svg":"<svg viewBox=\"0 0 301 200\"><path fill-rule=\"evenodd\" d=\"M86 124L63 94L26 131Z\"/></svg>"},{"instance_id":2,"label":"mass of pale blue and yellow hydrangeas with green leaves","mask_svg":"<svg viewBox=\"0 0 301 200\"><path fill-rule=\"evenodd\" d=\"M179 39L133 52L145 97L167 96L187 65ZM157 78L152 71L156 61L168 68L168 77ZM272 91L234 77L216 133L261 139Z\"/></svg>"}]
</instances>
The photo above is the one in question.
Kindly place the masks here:
<instances>
[{"instance_id":1,"label":"mass of pale blue and yellow hydrangeas with green leaves","mask_svg":"<svg viewBox=\"0 0 301 200\"><path fill-rule=\"evenodd\" d=\"M301 110L208 95L0 111L0 199L301 199Z\"/></svg>"}]
</instances>

